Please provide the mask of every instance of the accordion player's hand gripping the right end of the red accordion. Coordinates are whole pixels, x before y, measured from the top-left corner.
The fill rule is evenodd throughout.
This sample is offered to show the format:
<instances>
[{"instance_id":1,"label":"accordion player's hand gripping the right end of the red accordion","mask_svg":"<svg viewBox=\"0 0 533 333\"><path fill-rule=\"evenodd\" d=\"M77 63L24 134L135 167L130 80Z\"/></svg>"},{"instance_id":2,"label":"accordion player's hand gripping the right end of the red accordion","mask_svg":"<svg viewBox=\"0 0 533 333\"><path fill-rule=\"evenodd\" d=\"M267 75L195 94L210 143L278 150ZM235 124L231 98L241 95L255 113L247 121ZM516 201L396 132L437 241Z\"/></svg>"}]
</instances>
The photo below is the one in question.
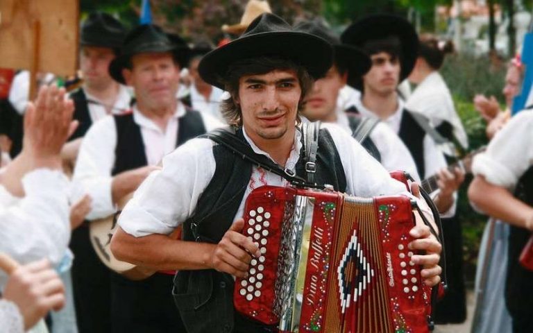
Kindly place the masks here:
<instances>
[{"instance_id":1,"label":"accordion player's hand gripping the right end of the red accordion","mask_svg":"<svg viewBox=\"0 0 533 333\"><path fill-rule=\"evenodd\" d=\"M441 281L442 268L439 266L442 246L431 234L427 225L416 225L409 232L414 241L409 243L409 249L418 250L419 254L413 255L412 261L422 266L422 279L430 287Z\"/></svg>"}]
</instances>

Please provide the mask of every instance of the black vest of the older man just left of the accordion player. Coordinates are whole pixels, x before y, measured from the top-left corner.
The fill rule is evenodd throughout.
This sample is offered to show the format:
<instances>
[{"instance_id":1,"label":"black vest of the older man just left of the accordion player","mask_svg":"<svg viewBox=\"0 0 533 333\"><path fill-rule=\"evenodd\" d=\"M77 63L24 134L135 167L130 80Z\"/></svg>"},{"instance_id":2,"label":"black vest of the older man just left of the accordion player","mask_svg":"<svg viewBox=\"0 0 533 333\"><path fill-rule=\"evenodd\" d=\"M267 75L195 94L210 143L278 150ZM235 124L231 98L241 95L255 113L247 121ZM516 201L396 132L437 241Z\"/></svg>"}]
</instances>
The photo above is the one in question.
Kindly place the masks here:
<instances>
[{"instance_id":1,"label":"black vest of the older man just left of the accordion player","mask_svg":"<svg viewBox=\"0 0 533 333\"><path fill-rule=\"evenodd\" d=\"M133 113L113 116L117 126L117 146L115 147L115 165L112 176L148 164L146 151L142 141L141 128L133 120ZM178 137L176 146L184 144L188 139L205 133L200 112L187 111L178 119Z\"/></svg>"}]
</instances>

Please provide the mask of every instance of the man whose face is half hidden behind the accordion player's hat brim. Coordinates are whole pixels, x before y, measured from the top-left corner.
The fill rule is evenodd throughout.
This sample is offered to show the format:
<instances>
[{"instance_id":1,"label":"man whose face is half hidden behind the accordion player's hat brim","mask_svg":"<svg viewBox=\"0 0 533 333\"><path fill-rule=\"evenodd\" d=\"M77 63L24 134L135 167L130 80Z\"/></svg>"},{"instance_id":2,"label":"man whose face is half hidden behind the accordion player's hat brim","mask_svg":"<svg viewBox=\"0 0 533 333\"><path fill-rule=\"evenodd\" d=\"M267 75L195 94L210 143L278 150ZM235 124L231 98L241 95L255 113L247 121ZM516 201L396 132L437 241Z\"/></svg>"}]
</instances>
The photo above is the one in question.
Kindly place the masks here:
<instances>
[{"instance_id":1,"label":"man whose face is half hidden behind the accordion player's hat brim","mask_svg":"<svg viewBox=\"0 0 533 333\"><path fill-rule=\"evenodd\" d=\"M323 38L332 44L334 53L332 67L323 78L314 82L305 99L303 115L310 121L337 123L387 171L407 171L415 180L420 180L414 160L409 158L411 153L389 126L375 118L346 113L351 99L342 96L341 91L346 83L353 84L354 78L369 71L369 57L355 46L341 44L339 37L319 19L301 22L294 29ZM362 133L366 135L359 136Z\"/></svg>"}]
</instances>

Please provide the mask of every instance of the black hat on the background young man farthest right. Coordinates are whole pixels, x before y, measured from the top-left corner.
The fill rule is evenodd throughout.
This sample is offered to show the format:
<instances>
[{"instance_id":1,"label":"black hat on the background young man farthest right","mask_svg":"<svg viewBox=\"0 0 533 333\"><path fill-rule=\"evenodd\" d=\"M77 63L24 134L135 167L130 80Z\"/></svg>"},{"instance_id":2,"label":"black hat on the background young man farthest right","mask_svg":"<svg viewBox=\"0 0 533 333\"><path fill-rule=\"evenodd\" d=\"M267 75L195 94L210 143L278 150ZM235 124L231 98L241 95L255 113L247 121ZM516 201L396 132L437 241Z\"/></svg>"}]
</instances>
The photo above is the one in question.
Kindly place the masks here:
<instances>
[{"instance_id":1,"label":"black hat on the background young man farthest right","mask_svg":"<svg viewBox=\"0 0 533 333\"><path fill-rule=\"evenodd\" d=\"M396 36L400 40L400 81L405 80L414 68L418 58L418 35L414 26L396 15L374 14L350 24L341 34L341 42L357 46L364 51L364 45L371 40L382 40Z\"/></svg>"}]
</instances>

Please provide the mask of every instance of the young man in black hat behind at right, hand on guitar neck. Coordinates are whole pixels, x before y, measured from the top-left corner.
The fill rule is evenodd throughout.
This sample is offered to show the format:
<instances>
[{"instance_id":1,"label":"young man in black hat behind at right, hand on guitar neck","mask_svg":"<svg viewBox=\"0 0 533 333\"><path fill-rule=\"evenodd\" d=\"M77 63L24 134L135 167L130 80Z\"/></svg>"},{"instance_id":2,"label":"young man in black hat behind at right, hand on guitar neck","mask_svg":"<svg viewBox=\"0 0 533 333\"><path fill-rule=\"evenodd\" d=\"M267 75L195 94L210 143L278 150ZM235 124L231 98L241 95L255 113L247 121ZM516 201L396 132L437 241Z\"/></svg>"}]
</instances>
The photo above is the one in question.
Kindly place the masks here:
<instances>
[{"instance_id":1,"label":"young man in black hat behind at right, hand on guitar neck","mask_svg":"<svg viewBox=\"0 0 533 333\"><path fill-rule=\"evenodd\" d=\"M401 17L369 15L348 26L341 40L362 49L372 61L370 71L355 80L362 97L353 112L377 116L391 126L411 152L422 179L439 174L434 201L443 217L453 216L464 173L446 169L443 153L426 130L430 127L427 119L405 110L398 96L398 84L409 76L416 61L418 35L414 27Z\"/></svg>"}]
</instances>

